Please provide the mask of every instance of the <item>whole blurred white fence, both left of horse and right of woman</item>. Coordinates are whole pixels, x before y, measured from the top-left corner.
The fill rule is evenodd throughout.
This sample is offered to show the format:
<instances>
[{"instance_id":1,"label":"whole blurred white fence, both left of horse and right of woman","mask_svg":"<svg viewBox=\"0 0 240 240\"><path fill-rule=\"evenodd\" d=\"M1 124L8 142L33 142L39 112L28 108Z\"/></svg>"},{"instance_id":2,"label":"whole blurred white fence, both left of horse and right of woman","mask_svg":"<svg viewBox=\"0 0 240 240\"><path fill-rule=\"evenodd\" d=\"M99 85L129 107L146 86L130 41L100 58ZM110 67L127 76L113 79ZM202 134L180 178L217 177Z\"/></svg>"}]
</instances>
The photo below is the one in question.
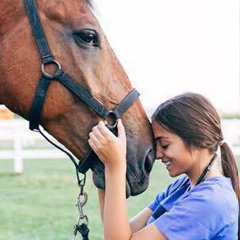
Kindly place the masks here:
<instances>
[{"instance_id":1,"label":"whole blurred white fence, both left of horse and right of woman","mask_svg":"<svg viewBox=\"0 0 240 240\"><path fill-rule=\"evenodd\" d=\"M240 155L240 120L222 121L224 138L234 154ZM49 135L48 135L49 136ZM50 139L51 136L49 136ZM55 140L56 141L56 140ZM8 147L4 147L6 143ZM39 148L39 143L41 148ZM28 129L22 119L0 121L0 160L14 159L14 172L23 171L23 159L66 158L66 155L45 141L41 134Z\"/></svg>"}]
</instances>

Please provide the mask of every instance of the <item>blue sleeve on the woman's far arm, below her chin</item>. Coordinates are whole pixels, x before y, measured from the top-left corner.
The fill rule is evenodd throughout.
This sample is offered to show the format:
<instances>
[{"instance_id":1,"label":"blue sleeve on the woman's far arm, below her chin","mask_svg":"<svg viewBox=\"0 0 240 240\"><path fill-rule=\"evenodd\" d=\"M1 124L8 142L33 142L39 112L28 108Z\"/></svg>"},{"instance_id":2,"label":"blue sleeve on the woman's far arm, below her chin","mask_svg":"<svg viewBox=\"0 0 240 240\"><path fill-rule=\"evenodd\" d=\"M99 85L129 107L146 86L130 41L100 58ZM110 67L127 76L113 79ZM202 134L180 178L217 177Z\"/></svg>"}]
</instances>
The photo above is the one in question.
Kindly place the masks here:
<instances>
[{"instance_id":1,"label":"blue sleeve on the woman's far arm, below her chin","mask_svg":"<svg viewBox=\"0 0 240 240\"><path fill-rule=\"evenodd\" d=\"M168 187L157 194L157 196L155 197L155 199L148 204L148 208L150 208L152 211L154 211L157 206L159 205L159 203L165 199L166 197L168 197L172 192L174 192L176 189L179 188L179 186L181 186L187 179L187 176L184 176L180 179L177 179L175 182L171 183L168 185Z\"/></svg>"}]
</instances>

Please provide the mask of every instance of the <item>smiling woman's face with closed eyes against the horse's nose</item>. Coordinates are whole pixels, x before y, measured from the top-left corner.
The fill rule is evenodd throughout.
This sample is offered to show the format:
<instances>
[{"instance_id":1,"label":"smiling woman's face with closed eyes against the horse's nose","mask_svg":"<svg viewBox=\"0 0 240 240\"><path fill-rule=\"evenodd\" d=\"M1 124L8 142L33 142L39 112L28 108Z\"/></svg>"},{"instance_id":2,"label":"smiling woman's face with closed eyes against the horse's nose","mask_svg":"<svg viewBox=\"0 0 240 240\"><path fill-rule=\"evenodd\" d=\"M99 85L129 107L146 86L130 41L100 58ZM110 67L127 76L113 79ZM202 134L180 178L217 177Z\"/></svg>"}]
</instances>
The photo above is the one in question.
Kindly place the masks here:
<instances>
[{"instance_id":1,"label":"smiling woman's face with closed eyes against the horse's nose","mask_svg":"<svg viewBox=\"0 0 240 240\"><path fill-rule=\"evenodd\" d=\"M152 128L156 143L156 158L162 161L169 175L171 177L182 173L189 175L194 171L196 161L190 147L187 147L178 135L167 131L155 120L152 122Z\"/></svg>"}]
</instances>

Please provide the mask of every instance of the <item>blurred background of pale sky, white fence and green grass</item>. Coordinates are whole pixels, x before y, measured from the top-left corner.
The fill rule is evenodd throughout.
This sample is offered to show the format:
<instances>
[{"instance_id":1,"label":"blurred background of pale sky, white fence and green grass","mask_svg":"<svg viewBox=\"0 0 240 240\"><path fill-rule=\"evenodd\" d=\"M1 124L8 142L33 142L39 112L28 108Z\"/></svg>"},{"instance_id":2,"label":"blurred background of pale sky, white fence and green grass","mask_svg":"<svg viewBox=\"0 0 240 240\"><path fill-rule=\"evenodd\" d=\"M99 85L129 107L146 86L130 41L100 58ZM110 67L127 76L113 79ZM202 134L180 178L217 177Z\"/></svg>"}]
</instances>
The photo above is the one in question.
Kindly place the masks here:
<instances>
[{"instance_id":1,"label":"blurred background of pale sky, white fence and green grass","mask_svg":"<svg viewBox=\"0 0 240 240\"><path fill-rule=\"evenodd\" d=\"M94 12L150 116L187 91L217 108L225 140L240 161L239 1L95 0ZM130 217L172 182L161 164L148 190L128 199ZM88 173L85 212L100 240L97 192ZM74 239L74 167L28 123L0 106L0 240ZM78 238L80 239L80 238Z\"/></svg>"}]
</instances>

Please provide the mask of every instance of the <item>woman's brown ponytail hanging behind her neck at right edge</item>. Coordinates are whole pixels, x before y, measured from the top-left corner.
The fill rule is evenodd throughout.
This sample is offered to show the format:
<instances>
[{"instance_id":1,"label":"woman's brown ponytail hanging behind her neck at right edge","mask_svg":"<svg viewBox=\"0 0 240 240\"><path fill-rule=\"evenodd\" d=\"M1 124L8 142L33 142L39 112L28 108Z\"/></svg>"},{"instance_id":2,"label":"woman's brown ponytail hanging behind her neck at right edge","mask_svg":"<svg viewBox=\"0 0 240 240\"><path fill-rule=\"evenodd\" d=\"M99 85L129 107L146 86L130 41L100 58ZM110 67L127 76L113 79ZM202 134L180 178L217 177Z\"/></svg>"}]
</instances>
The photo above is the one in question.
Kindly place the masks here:
<instances>
[{"instance_id":1,"label":"woman's brown ponytail hanging behind her neck at right edge","mask_svg":"<svg viewBox=\"0 0 240 240\"><path fill-rule=\"evenodd\" d=\"M221 144L220 149L223 174L225 177L231 178L233 189L236 193L238 205L240 208L240 189L236 159L233 155L231 148L227 145L226 142L223 142ZM240 239L240 215L238 215L238 239Z\"/></svg>"}]
</instances>

